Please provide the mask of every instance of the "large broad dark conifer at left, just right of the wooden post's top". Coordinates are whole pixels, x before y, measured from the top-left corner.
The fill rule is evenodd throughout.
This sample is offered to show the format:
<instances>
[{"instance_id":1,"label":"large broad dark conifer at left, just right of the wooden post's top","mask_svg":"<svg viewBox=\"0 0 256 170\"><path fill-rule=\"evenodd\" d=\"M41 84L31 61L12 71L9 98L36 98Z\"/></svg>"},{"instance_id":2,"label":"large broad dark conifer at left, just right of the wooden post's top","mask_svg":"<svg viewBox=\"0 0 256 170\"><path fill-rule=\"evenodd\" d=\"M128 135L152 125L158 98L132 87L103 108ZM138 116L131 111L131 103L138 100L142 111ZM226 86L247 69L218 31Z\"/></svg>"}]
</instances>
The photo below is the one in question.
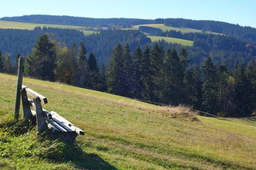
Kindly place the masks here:
<instances>
[{"instance_id":1,"label":"large broad dark conifer at left, just right of the wooden post's top","mask_svg":"<svg viewBox=\"0 0 256 170\"><path fill-rule=\"evenodd\" d=\"M47 35L43 34L36 40L33 55L28 59L29 74L43 80L55 79L56 46Z\"/></svg>"}]
</instances>

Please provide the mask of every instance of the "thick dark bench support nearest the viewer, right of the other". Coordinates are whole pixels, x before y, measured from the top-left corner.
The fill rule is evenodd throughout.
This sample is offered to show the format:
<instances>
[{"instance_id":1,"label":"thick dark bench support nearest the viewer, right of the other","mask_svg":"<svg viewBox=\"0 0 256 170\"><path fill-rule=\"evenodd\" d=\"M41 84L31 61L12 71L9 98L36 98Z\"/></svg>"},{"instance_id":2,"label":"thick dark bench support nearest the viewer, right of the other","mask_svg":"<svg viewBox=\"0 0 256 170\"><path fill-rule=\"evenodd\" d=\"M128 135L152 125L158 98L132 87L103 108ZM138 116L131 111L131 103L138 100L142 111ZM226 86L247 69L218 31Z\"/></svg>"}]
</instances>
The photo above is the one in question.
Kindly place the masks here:
<instances>
[{"instance_id":1,"label":"thick dark bench support nearest the viewer, right of the other","mask_svg":"<svg viewBox=\"0 0 256 170\"><path fill-rule=\"evenodd\" d=\"M48 127L45 122L44 111L42 109L42 105L39 97L35 98L35 105L36 105L37 136L40 136L45 131L47 131Z\"/></svg>"}]
</instances>

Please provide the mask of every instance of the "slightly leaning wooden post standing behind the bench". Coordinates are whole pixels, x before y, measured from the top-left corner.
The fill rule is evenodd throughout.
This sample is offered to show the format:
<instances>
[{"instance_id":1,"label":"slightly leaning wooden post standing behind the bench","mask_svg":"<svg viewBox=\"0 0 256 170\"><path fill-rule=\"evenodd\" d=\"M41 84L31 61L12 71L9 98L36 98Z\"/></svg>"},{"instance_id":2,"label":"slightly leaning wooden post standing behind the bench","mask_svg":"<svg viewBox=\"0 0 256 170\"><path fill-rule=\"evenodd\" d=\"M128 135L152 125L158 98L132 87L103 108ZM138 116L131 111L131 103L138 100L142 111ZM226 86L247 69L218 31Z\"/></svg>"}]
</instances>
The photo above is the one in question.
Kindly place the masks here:
<instances>
[{"instance_id":1,"label":"slightly leaning wooden post standing behind the bench","mask_svg":"<svg viewBox=\"0 0 256 170\"><path fill-rule=\"evenodd\" d=\"M20 90L21 90L21 87L22 87L22 79L23 79L23 73L24 73L24 64L25 64L25 57L19 57L19 69L18 69L17 90L16 90L15 111L14 111L14 118L16 120L19 119Z\"/></svg>"}]
</instances>

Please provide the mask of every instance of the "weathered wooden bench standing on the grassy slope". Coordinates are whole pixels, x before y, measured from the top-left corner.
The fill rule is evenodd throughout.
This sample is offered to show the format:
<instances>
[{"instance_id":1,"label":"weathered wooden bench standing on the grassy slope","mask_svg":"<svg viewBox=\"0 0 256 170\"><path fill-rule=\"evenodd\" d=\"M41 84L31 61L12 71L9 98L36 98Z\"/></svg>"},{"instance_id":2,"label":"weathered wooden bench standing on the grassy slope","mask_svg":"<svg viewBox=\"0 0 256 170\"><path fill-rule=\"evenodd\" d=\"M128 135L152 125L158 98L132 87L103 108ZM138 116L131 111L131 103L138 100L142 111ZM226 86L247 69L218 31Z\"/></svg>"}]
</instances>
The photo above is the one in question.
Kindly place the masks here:
<instances>
[{"instance_id":1,"label":"weathered wooden bench standing on the grassy slope","mask_svg":"<svg viewBox=\"0 0 256 170\"><path fill-rule=\"evenodd\" d=\"M37 135L50 132L56 138L76 139L77 134L84 135L84 131L68 122L55 111L47 111L42 108L42 104L47 104L47 98L38 94L34 90L22 85L20 90L23 114L26 121L37 125ZM28 94L28 95L27 95ZM32 98L29 99L28 96ZM34 110L31 110L33 108Z\"/></svg>"}]
</instances>

